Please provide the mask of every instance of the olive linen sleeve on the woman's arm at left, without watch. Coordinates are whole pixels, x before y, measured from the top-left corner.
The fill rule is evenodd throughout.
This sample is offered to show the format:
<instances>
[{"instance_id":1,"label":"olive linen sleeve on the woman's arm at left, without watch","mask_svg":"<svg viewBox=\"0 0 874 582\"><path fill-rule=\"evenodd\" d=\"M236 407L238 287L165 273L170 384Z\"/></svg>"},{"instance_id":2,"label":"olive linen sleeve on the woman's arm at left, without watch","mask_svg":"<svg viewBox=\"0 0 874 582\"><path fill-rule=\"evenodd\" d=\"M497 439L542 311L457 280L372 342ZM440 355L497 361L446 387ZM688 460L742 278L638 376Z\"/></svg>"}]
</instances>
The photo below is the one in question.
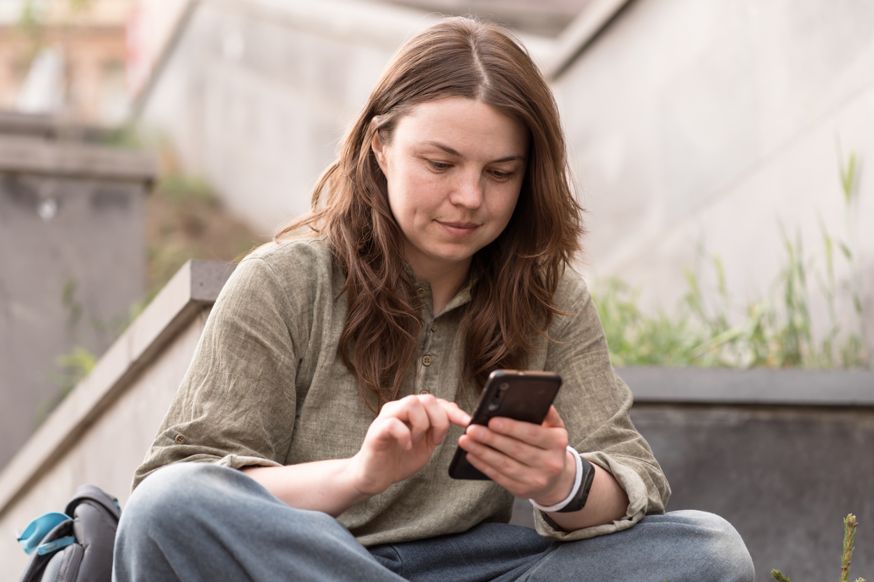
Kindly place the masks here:
<instances>
[{"instance_id":1,"label":"olive linen sleeve on the woman's arm at left, without watch","mask_svg":"<svg viewBox=\"0 0 874 582\"><path fill-rule=\"evenodd\" d=\"M204 333L146 458L135 488L174 462L214 462L239 469L280 466L295 419L295 373L306 320L270 264L239 264L207 319ZM300 317L303 316L303 317ZM291 324L294 325L294 324Z\"/></svg>"}]
</instances>

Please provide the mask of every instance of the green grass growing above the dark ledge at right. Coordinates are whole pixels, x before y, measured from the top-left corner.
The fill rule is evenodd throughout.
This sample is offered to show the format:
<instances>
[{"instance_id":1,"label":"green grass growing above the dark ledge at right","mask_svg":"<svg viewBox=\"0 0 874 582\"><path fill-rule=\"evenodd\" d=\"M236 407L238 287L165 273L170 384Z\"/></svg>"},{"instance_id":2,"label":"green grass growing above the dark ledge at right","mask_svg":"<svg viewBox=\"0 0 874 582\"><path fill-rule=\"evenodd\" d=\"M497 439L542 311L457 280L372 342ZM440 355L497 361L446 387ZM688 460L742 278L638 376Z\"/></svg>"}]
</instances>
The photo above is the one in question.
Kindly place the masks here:
<instances>
[{"instance_id":1,"label":"green grass growing above the dark ledge at right","mask_svg":"<svg viewBox=\"0 0 874 582\"><path fill-rule=\"evenodd\" d=\"M835 236L820 220L822 256L808 256L801 233L790 236L778 223L785 252L779 276L764 298L733 305L722 260L710 258L716 288L705 292L700 277L685 270L686 293L673 312L651 313L639 307L640 288L609 278L593 285L593 300L607 335L616 366L802 367L856 368L868 366L864 337L864 308L852 241L855 154L839 166L845 231ZM853 320L838 317L836 263L850 272ZM829 325L816 337L811 324L810 298L816 283L828 305Z\"/></svg>"}]
</instances>

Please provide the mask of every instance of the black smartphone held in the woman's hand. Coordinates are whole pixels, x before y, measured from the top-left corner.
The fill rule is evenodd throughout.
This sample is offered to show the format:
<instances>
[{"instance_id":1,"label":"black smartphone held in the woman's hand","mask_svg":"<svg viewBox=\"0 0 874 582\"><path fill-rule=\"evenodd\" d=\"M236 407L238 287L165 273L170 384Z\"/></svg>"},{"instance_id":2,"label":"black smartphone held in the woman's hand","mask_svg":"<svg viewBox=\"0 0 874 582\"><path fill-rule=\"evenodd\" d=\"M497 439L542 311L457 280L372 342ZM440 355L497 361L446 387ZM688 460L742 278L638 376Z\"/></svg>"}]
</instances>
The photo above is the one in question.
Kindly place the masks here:
<instances>
[{"instance_id":1,"label":"black smartphone held in the woman's hand","mask_svg":"<svg viewBox=\"0 0 874 582\"><path fill-rule=\"evenodd\" d=\"M559 387L561 376L554 372L495 370L489 374L489 380L482 388L470 424L487 425L493 416L541 424ZM468 462L468 453L461 447L455 451L449 464L449 476L454 479L489 480Z\"/></svg>"}]
</instances>

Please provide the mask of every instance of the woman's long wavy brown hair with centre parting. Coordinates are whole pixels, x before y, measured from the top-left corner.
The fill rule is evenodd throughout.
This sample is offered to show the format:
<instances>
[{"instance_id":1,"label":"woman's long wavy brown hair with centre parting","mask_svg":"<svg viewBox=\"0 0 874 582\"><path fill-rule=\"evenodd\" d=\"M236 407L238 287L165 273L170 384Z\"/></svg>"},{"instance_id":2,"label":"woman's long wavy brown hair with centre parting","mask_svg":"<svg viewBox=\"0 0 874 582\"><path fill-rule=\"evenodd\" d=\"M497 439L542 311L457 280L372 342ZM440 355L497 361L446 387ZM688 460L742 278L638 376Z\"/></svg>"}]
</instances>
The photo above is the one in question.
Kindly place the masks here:
<instances>
[{"instance_id":1,"label":"woman's long wavy brown hair with centre parting","mask_svg":"<svg viewBox=\"0 0 874 582\"><path fill-rule=\"evenodd\" d=\"M316 183L312 212L286 225L327 236L343 267L349 314L340 355L364 401L398 397L410 378L422 319L406 276L403 235L385 176L371 151L406 113L447 97L477 99L521 123L531 136L528 166L507 228L479 250L480 278L461 316L464 381L480 387L499 367L524 368L531 339L560 313L553 302L565 266L579 252L582 209L569 181L565 140L549 86L524 47L495 24L447 18L402 46L358 115L337 160ZM342 294L342 293L341 293Z\"/></svg>"}]
</instances>

